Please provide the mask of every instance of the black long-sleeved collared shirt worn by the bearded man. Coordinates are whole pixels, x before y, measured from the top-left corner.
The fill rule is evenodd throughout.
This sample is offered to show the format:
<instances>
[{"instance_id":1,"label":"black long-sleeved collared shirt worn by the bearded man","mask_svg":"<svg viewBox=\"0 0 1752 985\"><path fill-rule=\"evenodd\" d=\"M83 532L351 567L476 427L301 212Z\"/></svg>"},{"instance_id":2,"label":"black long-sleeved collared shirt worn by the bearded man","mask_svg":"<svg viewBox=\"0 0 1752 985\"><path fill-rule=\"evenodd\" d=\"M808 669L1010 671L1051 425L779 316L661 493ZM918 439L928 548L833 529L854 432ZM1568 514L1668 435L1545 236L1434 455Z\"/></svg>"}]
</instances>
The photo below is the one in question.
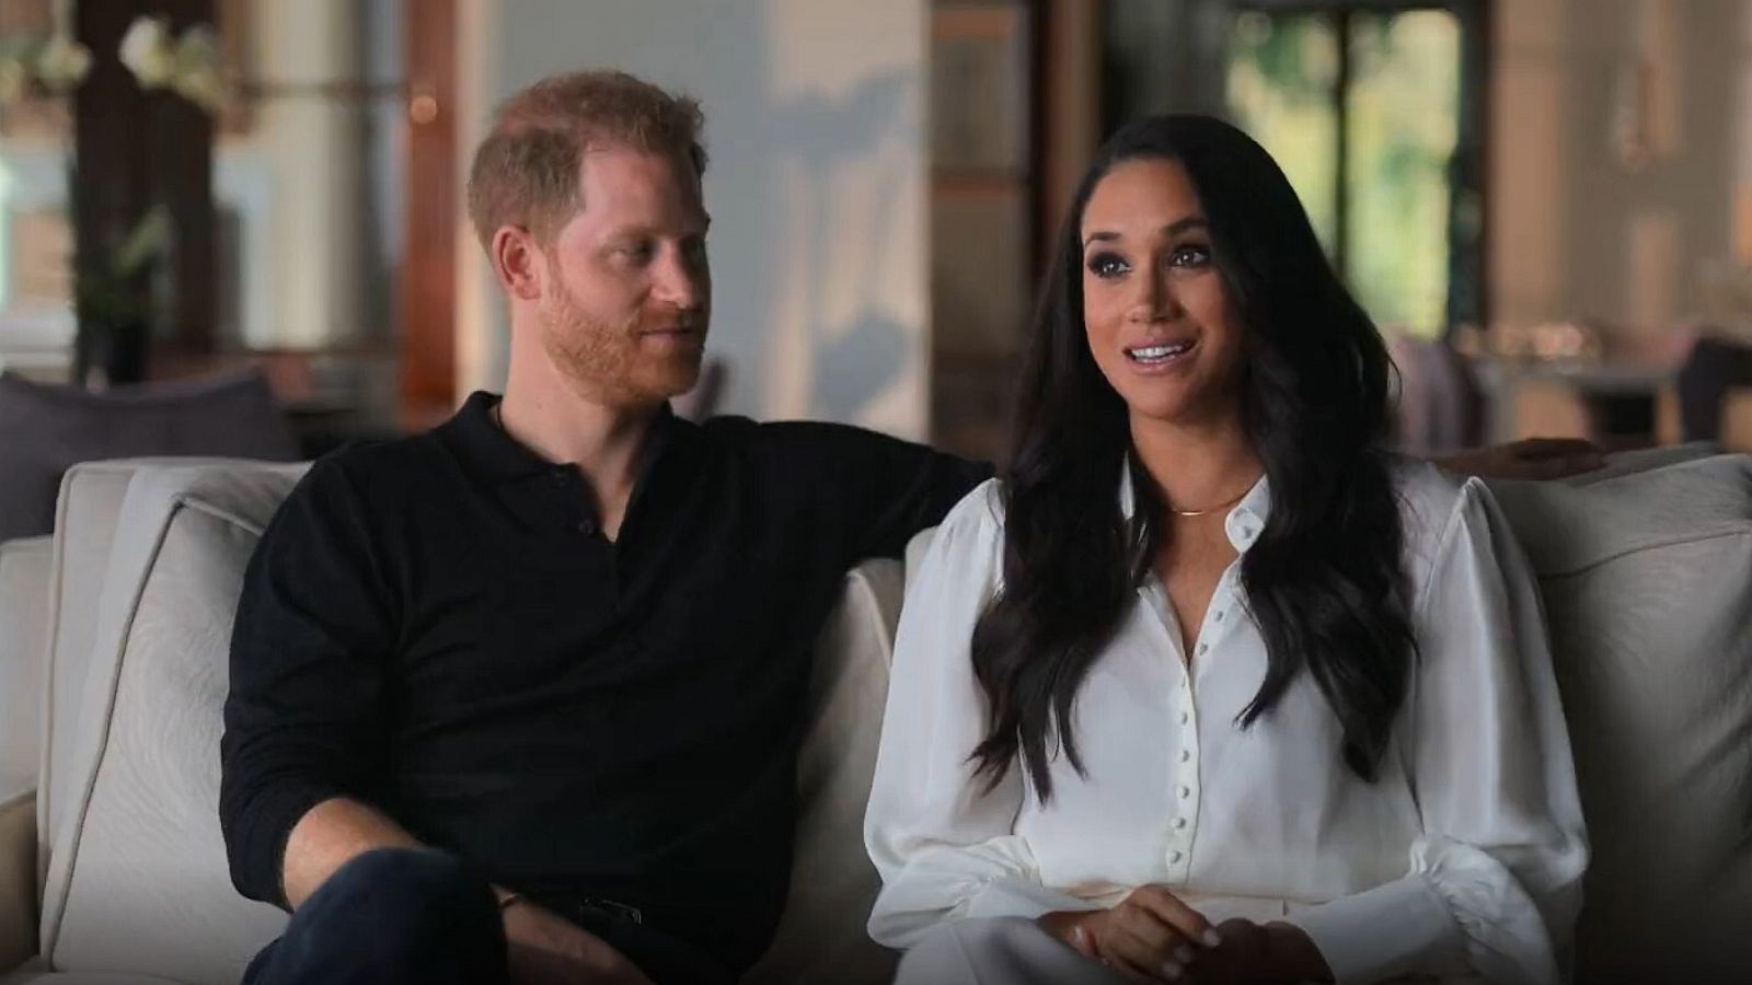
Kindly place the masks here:
<instances>
[{"instance_id":1,"label":"black long-sleeved collared shirt worn by the bearded man","mask_svg":"<svg viewBox=\"0 0 1752 985\"><path fill-rule=\"evenodd\" d=\"M378 806L484 878L606 897L745 967L790 871L809 654L841 578L988 470L836 424L664 417L620 536L477 393L319 461L231 641L221 820L280 901L293 824Z\"/></svg>"}]
</instances>

